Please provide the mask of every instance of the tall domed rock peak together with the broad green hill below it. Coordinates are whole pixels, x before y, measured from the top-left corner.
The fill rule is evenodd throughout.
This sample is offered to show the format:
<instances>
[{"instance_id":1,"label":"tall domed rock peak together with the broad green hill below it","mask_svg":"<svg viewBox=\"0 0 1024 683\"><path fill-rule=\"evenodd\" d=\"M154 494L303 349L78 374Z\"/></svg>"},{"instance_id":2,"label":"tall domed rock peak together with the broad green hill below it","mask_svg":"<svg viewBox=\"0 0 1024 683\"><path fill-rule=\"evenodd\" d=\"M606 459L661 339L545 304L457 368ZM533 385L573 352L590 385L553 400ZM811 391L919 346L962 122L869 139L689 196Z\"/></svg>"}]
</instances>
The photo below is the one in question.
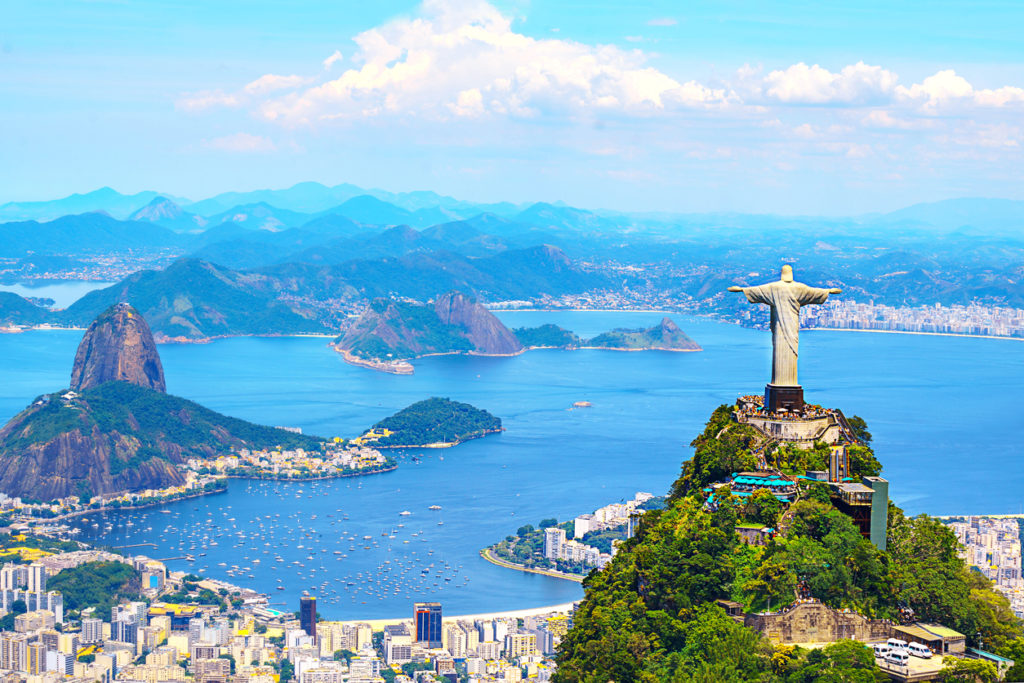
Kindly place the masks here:
<instances>
[{"instance_id":1,"label":"tall domed rock peak together with the broad green hill below it","mask_svg":"<svg viewBox=\"0 0 1024 683\"><path fill-rule=\"evenodd\" d=\"M0 429L0 492L29 501L203 488L188 470L233 451L325 452L316 436L255 425L165 393L153 335L131 305L86 331L72 386L37 397ZM193 486L191 484L195 484Z\"/></svg>"}]
</instances>

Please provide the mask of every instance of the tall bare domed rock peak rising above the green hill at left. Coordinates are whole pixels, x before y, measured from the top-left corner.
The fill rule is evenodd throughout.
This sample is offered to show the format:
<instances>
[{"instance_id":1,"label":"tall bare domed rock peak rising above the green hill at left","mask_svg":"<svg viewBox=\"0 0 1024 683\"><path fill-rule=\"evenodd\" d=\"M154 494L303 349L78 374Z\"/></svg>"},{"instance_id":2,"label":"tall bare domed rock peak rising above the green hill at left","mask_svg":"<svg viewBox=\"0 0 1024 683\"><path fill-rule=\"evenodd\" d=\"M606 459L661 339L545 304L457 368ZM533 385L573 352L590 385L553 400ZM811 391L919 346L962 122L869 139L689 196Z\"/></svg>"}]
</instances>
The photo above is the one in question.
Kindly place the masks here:
<instances>
[{"instance_id":1,"label":"tall bare domed rock peak rising above the green hill at left","mask_svg":"<svg viewBox=\"0 0 1024 683\"><path fill-rule=\"evenodd\" d=\"M89 326L75 354L71 388L83 391L115 380L167 391L150 326L126 303L111 306Z\"/></svg>"}]
</instances>

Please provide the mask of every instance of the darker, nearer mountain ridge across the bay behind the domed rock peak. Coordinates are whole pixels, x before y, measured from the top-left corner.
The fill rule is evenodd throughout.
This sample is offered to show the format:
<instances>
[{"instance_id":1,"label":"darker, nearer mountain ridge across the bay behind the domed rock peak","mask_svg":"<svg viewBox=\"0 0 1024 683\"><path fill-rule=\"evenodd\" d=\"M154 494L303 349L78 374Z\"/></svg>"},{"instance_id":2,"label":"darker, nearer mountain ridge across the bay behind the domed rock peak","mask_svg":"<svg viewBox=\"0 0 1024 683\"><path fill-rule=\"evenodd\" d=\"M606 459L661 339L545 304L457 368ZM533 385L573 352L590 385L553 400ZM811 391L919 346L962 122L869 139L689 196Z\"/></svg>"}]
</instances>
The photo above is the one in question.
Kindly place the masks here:
<instances>
[{"instance_id":1,"label":"darker, nearer mountain ridge across the bay behind the domed rock peak","mask_svg":"<svg viewBox=\"0 0 1024 683\"><path fill-rule=\"evenodd\" d=\"M484 258L411 252L397 259L284 263L253 270L182 258L166 269L140 270L94 290L66 310L50 311L16 294L0 293L0 323L84 327L105 308L128 301L165 341L330 334L338 329L338 302L357 305L390 296L425 301L456 289L487 299L559 296L604 285L605 278L574 266L554 247Z\"/></svg>"}]
</instances>

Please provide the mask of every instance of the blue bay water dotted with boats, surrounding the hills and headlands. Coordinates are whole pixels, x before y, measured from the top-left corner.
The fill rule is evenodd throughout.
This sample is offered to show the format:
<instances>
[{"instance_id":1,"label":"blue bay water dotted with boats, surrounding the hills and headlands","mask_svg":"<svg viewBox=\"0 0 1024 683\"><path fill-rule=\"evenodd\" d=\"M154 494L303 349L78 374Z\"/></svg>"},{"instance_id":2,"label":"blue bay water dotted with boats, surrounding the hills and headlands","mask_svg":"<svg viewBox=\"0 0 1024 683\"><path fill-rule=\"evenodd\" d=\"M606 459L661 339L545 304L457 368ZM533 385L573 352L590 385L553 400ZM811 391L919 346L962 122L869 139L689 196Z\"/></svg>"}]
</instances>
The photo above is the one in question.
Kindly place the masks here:
<instances>
[{"instance_id":1,"label":"blue bay water dotted with boats, surrounding the hills and headlands","mask_svg":"<svg viewBox=\"0 0 1024 683\"><path fill-rule=\"evenodd\" d=\"M510 327L550 322L582 336L662 317L500 316ZM402 454L399 469L381 475L231 481L226 494L171 504L166 513L97 515L81 522L83 538L153 543L137 551L160 558L190 552L196 562L168 563L265 591L290 609L310 590L335 618L400 615L425 599L440 600L447 613L577 599L575 584L503 569L477 551L524 523L567 519L638 490L664 494L710 413L763 390L768 333L674 317L703 351L438 356L400 377L348 366L324 339L161 346L170 392L256 422L354 436L409 403L447 396L498 415L506 431ZM0 335L0 416L67 386L79 339ZM867 420L891 495L907 512L1021 511L1024 343L828 331L805 332L801 341L807 398ZM593 408L570 410L577 400ZM240 568L229 575L232 564Z\"/></svg>"}]
</instances>

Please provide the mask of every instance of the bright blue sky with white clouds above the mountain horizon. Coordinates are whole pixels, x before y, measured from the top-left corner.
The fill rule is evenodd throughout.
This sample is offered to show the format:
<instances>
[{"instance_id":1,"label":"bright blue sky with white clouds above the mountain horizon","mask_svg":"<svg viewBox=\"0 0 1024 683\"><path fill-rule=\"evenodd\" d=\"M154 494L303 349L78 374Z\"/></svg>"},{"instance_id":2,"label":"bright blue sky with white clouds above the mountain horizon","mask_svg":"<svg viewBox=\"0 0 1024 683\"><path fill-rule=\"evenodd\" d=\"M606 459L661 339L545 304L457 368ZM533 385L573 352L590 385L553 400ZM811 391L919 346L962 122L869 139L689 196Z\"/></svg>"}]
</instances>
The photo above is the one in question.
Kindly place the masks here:
<instances>
[{"instance_id":1,"label":"bright blue sky with white clouds above the mountain horizon","mask_svg":"<svg viewBox=\"0 0 1024 683\"><path fill-rule=\"evenodd\" d=\"M1011 2L0 9L0 201L302 180L856 214L1024 199Z\"/></svg>"}]
</instances>

